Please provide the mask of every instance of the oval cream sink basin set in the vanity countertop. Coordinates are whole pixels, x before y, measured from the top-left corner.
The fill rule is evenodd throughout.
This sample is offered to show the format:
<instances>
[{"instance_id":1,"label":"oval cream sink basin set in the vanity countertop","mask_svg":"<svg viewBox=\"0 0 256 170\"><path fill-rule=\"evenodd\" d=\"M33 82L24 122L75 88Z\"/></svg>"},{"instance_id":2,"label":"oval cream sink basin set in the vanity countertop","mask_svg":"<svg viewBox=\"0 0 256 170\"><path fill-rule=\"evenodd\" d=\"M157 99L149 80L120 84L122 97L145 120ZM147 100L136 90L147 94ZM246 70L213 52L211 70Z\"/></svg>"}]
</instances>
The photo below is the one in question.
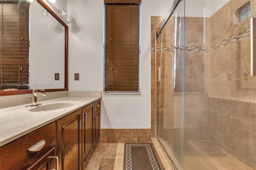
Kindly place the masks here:
<instances>
[{"instance_id":1,"label":"oval cream sink basin set in the vanity countertop","mask_svg":"<svg viewBox=\"0 0 256 170\"><path fill-rule=\"evenodd\" d=\"M64 109L74 106L74 103L50 103L45 105L34 106L32 109L29 109L31 112L41 112L41 111L52 111L56 109Z\"/></svg>"}]
</instances>

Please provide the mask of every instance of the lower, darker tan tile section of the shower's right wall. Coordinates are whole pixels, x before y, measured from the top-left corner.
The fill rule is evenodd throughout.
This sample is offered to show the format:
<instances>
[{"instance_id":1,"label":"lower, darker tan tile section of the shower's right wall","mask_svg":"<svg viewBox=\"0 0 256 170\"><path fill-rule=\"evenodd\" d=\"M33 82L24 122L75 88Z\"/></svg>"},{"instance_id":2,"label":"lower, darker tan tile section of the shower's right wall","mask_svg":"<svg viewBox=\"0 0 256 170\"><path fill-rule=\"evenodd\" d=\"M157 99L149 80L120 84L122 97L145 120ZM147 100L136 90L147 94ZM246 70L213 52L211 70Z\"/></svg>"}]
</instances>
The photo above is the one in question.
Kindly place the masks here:
<instances>
[{"instance_id":1,"label":"lower, darker tan tile section of the shower's right wall","mask_svg":"<svg viewBox=\"0 0 256 170\"><path fill-rule=\"evenodd\" d=\"M256 169L256 103L209 98L209 139Z\"/></svg>"}]
</instances>

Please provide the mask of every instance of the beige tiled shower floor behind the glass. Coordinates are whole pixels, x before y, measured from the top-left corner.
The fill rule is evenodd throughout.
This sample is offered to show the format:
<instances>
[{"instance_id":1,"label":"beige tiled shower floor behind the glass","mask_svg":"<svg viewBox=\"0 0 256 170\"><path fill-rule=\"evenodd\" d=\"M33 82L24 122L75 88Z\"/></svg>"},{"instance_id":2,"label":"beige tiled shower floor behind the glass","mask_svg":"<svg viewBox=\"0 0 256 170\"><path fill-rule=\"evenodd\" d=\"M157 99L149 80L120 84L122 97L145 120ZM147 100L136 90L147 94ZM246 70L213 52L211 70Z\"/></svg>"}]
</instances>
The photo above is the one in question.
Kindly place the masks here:
<instances>
[{"instance_id":1,"label":"beige tiled shower floor behind the glass","mask_svg":"<svg viewBox=\"0 0 256 170\"><path fill-rule=\"evenodd\" d=\"M252 170L210 140L162 144L179 170Z\"/></svg>"}]
</instances>

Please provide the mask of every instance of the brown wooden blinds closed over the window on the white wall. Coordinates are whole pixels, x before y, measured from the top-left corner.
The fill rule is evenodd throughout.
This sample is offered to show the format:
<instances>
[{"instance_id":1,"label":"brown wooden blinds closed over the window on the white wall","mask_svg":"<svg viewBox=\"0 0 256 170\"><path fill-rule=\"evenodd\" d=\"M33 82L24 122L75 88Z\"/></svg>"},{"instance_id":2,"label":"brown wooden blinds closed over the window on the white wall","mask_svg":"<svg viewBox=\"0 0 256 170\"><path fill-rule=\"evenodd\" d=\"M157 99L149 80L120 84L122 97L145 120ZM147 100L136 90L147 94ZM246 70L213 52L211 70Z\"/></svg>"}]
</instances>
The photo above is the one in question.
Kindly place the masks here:
<instances>
[{"instance_id":1,"label":"brown wooden blinds closed over the window on the white wall","mask_svg":"<svg viewBox=\"0 0 256 170\"><path fill-rule=\"evenodd\" d=\"M105 91L139 92L139 4L106 4Z\"/></svg>"}]
</instances>

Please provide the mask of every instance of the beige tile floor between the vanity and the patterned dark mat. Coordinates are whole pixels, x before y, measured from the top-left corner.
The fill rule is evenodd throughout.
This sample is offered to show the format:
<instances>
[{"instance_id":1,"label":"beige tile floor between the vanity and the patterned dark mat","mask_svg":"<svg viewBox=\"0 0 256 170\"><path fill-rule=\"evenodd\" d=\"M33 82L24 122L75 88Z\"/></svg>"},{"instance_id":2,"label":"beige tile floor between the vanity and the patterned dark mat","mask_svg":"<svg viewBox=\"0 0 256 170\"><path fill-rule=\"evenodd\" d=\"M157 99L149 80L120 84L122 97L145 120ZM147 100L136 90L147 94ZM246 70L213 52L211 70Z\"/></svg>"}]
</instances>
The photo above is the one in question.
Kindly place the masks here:
<instances>
[{"instance_id":1,"label":"beige tile floor between the vanity and the patterned dark mat","mask_svg":"<svg viewBox=\"0 0 256 170\"><path fill-rule=\"evenodd\" d=\"M123 170L124 143L99 143L86 170Z\"/></svg>"}]
</instances>

